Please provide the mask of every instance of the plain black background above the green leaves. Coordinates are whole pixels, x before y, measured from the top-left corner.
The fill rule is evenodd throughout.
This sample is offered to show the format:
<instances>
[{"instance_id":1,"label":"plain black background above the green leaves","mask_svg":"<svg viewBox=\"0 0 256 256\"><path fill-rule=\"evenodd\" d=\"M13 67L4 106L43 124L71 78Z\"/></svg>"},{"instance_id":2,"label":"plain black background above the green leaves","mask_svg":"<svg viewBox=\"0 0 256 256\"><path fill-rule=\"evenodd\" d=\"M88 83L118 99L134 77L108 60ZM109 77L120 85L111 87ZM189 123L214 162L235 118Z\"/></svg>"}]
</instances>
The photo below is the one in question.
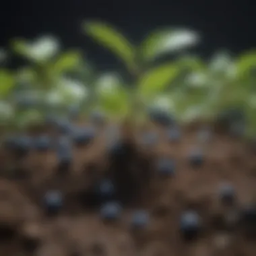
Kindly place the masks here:
<instances>
[{"instance_id":1,"label":"plain black background above the green leaves","mask_svg":"<svg viewBox=\"0 0 256 256\"><path fill-rule=\"evenodd\" d=\"M238 54L256 46L255 8L249 0L5 0L0 15L0 46L6 46L14 36L54 34L64 48L84 49L100 69L116 67L112 55L82 34L80 24L88 18L114 24L135 42L158 26L193 28L203 35L197 47L202 57L218 49Z\"/></svg>"}]
</instances>

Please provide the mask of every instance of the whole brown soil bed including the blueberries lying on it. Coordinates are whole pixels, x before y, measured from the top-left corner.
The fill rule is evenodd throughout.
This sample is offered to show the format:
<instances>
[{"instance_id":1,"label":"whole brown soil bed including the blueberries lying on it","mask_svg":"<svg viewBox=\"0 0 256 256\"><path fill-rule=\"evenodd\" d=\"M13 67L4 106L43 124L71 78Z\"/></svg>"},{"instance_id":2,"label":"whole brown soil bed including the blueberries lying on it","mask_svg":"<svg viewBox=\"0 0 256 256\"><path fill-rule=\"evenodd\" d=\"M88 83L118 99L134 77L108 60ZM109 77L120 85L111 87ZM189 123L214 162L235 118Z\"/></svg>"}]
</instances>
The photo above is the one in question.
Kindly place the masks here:
<instances>
[{"instance_id":1,"label":"whole brown soil bed including the blueberries lying on it","mask_svg":"<svg viewBox=\"0 0 256 256\"><path fill-rule=\"evenodd\" d=\"M53 149L2 150L0 255L255 256L255 152L199 128L114 145L105 127L61 166Z\"/></svg>"}]
</instances>

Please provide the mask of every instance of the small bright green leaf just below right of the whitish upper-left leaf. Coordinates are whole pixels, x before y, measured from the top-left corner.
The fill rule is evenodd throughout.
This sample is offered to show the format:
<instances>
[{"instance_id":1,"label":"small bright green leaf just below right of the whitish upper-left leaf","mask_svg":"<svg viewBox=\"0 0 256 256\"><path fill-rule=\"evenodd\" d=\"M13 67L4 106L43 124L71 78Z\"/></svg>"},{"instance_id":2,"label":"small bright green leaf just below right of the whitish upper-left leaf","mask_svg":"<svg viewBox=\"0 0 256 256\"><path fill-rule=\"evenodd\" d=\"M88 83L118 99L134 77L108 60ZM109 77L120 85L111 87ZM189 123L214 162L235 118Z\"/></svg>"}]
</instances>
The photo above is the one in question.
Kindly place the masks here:
<instances>
[{"instance_id":1,"label":"small bright green leaf just below right of the whitish upper-left leaf","mask_svg":"<svg viewBox=\"0 0 256 256\"><path fill-rule=\"evenodd\" d=\"M79 51L69 51L63 53L53 64L53 70L56 74L62 74L67 71L73 71L82 63L82 55Z\"/></svg>"}]
</instances>

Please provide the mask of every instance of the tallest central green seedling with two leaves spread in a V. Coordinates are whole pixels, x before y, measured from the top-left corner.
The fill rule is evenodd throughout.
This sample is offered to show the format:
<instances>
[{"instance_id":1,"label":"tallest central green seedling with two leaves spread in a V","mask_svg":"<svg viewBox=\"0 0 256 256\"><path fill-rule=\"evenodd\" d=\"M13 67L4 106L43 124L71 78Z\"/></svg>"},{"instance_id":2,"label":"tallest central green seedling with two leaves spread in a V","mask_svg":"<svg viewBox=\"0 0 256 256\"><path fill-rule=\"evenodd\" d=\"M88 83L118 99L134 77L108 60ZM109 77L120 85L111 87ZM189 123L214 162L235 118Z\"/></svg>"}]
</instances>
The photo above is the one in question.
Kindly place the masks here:
<instances>
[{"instance_id":1,"label":"tallest central green seedling with two leaves spread in a V","mask_svg":"<svg viewBox=\"0 0 256 256\"><path fill-rule=\"evenodd\" d=\"M174 79L177 79L180 69L173 61L159 61L166 53L182 53L189 46L197 44L199 35L190 30L156 30L147 36L140 44L132 44L121 32L101 22L85 22L84 30L96 42L112 51L127 67L132 79L112 88L112 94L103 96L106 108L114 106L121 115L132 115L132 119L145 117L145 110L158 104ZM158 64L160 62L160 64ZM124 84L124 83L123 83ZM113 84L114 86L114 84ZM153 102L153 104L152 104ZM110 106L111 105L111 106ZM120 115L119 114L119 115Z\"/></svg>"}]
</instances>

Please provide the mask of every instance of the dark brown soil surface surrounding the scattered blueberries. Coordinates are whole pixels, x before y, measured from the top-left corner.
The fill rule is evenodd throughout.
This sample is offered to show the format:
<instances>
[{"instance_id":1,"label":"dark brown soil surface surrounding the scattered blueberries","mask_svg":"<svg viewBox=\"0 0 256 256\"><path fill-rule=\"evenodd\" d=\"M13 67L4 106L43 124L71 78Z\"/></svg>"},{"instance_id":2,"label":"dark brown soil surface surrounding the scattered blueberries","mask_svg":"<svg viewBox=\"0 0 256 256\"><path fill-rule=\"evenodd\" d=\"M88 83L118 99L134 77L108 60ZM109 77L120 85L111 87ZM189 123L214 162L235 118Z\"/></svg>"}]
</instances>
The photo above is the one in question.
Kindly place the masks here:
<instances>
[{"instance_id":1,"label":"dark brown soil surface surrounding the scattered blueberries","mask_svg":"<svg viewBox=\"0 0 256 256\"><path fill-rule=\"evenodd\" d=\"M160 141L155 147L143 148L137 142L136 150L130 146L129 155L120 161L108 158L102 132L91 145L73 149L71 170L63 176L57 174L54 152L31 152L17 160L2 151L0 255L254 256L255 240L245 236L238 224L225 222L224 216L254 201L255 154L243 139L225 133L215 132L211 141L199 144L197 128L184 129L177 143L168 142L158 129ZM195 147L205 152L199 168L187 160ZM174 177L162 179L156 174L154 162L162 156L176 161ZM98 205L90 204L90 187L106 174L117 183L123 203L121 220L112 224L102 222ZM217 199L222 181L236 188L233 208L223 207ZM55 217L42 211L47 189L60 189L65 195L63 210ZM129 220L137 208L150 212L150 225L132 232ZM192 243L179 234L179 217L187 208L197 210L203 219L203 231Z\"/></svg>"}]
</instances>

